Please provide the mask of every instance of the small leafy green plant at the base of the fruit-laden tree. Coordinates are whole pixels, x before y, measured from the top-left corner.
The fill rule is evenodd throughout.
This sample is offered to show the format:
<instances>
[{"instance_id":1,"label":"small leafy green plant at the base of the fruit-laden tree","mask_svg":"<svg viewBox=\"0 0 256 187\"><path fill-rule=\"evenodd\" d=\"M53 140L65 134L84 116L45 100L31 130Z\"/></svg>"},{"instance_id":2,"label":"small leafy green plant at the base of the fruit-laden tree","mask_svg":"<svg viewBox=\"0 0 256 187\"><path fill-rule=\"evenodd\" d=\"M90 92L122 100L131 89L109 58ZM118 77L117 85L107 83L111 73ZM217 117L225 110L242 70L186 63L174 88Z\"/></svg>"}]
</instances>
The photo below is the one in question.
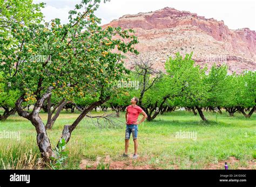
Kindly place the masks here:
<instances>
[{"instance_id":1,"label":"small leafy green plant at the base of the fruit-laden tree","mask_svg":"<svg viewBox=\"0 0 256 187\"><path fill-rule=\"evenodd\" d=\"M58 147L55 147L53 152L55 157L51 157L50 166L52 169L63 169L63 163L68 159L69 151L64 151L66 146L65 139L61 138L58 142Z\"/></svg>"}]
</instances>

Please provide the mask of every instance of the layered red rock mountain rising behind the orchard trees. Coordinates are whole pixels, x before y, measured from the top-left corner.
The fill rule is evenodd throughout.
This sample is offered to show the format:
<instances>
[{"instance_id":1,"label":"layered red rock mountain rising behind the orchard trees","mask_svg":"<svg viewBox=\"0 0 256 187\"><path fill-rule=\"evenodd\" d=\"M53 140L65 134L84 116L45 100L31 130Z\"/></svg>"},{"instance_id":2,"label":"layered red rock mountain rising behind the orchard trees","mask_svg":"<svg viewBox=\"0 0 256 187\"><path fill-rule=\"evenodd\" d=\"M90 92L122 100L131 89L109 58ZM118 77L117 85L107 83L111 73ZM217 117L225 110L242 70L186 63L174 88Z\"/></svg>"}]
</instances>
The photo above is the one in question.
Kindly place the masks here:
<instances>
[{"instance_id":1,"label":"layered red rock mountain rising behind the orchard trees","mask_svg":"<svg viewBox=\"0 0 256 187\"><path fill-rule=\"evenodd\" d=\"M154 12L125 15L103 27L120 26L136 31L138 56L128 54L126 66L136 60L152 60L157 69L175 53L193 52L200 66L226 63L229 73L256 69L256 33L249 28L230 30L224 21L206 19L196 13L164 8Z\"/></svg>"}]
</instances>

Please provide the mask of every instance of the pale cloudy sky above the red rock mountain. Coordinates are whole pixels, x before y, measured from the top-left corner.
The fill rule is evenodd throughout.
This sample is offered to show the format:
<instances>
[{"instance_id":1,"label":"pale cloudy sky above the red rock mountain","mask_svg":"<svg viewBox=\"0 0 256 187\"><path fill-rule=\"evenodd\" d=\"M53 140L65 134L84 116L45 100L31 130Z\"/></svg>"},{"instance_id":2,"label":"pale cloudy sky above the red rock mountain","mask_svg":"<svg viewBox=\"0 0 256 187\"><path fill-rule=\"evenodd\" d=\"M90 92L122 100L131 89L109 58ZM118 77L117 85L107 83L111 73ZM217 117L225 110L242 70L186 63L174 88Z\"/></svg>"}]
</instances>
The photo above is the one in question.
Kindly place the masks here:
<instances>
[{"instance_id":1,"label":"pale cloudy sky above the red rock mountain","mask_svg":"<svg viewBox=\"0 0 256 187\"><path fill-rule=\"evenodd\" d=\"M42 10L46 21L60 18L62 23L67 23L69 10L74 9L80 0L33 0L33 2L46 3ZM224 24L231 29L248 27L256 30L255 0L111 0L100 4L96 16L102 19L102 24L107 24L126 14L150 12L166 6L197 13L198 16L205 18L224 20Z\"/></svg>"}]
</instances>

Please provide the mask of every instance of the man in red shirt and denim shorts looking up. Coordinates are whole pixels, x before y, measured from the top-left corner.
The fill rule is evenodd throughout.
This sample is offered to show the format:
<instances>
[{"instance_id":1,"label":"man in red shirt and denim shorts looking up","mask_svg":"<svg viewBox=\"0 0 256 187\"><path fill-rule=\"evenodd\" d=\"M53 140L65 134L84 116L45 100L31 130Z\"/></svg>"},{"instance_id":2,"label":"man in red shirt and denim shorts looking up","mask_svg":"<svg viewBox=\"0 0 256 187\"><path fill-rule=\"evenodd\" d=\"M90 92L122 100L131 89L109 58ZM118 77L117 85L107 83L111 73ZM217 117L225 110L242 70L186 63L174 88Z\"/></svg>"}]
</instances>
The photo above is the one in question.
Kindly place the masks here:
<instances>
[{"instance_id":1,"label":"man in red shirt and denim shorts looking up","mask_svg":"<svg viewBox=\"0 0 256 187\"><path fill-rule=\"evenodd\" d=\"M132 138L134 141L134 155L133 159L137 159L137 149L138 149L138 141L137 141L137 135L138 135L138 125L141 124L146 118L147 114L142 110L141 107L136 105L139 102L139 99L137 97L133 97L131 99L131 105L127 106L126 108L126 130L125 130L125 153L123 154L124 157L128 157L128 147L129 147L129 140L130 135L132 133ZM139 114L143 114L142 120L138 121Z\"/></svg>"}]
</instances>

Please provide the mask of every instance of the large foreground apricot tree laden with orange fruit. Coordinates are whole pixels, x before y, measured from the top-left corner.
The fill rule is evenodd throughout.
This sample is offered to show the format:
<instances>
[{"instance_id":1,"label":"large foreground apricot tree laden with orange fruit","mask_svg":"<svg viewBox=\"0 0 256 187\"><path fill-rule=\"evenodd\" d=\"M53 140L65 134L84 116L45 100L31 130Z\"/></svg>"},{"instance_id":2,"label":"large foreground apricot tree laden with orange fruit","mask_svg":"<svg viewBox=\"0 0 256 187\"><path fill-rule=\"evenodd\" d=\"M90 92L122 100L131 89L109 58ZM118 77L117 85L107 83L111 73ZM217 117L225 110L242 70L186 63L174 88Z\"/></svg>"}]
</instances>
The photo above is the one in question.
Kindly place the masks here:
<instances>
[{"instance_id":1,"label":"large foreground apricot tree laden with orange fruit","mask_svg":"<svg viewBox=\"0 0 256 187\"><path fill-rule=\"evenodd\" d=\"M58 18L44 24L14 22L2 38L0 71L11 85L9 89L21 91L16 110L35 126L45 160L55 155L39 111L52 93L71 102L77 96L89 100L79 117L64 126L62 138L67 143L86 114L118 90L114 82L128 71L122 53L138 53L133 48L138 41L132 30L99 26L100 19L94 15L99 3L83 0L69 12L69 23L64 25ZM120 39L113 39L116 36ZM27 102L33 103L32 112L23 109Z\"/></svg>"}]
</instances>

